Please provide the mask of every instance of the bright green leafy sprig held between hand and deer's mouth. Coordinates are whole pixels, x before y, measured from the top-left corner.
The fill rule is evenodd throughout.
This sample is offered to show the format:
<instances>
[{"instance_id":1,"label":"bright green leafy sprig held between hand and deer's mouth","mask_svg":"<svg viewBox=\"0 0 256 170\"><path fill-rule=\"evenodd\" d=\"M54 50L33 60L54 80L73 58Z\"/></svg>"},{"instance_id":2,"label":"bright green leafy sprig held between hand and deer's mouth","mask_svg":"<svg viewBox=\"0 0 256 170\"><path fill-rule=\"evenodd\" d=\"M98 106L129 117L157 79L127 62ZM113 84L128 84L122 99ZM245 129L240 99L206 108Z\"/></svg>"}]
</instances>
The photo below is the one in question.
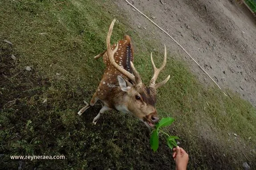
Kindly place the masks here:
<instances>
[{"instance_id":1,"label":"bright green leafy sprig held between hand and deer's mouth","mask_svg":"<svg viewBox=\"0 0 256 170\"><path fill-rule=\"evenodd\" d=\"M171 136L161 130L162 127L166 127L168 125L171 125L171 123L174 122L174 119L171 117L163 118L160 120L159 123L155 125L155 129L152 131L151 137L150 137L150 146L151 148L156 151L158 149L159 145L159 133L163 133L167 136L167 145L172 149L173 147L177 146L176 140L179 139L177 136Z\"/></svg>"}]
</instances>

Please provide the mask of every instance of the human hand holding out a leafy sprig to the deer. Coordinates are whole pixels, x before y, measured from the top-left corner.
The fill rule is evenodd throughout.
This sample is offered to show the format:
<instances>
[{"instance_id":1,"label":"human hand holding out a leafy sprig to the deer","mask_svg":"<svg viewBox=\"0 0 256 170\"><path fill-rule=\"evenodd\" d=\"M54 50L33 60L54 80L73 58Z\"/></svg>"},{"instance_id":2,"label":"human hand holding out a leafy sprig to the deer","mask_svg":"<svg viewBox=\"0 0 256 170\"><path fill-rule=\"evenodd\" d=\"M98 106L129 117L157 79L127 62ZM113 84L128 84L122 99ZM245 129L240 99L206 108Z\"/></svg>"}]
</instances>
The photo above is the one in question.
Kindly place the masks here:
<instances>
[{"instance_id":1,"label":"human hand holding out a leafy sprig to the deer","mask_svg":"<svg viewBox=\"0 0 256 170\"><path fill-rule=\"evenodd\" d=\"M188 154L183 148L177 146L173 148L172 157L176 163L176 170L186 170L188 163Z\"/></svg>"}]
</instances>

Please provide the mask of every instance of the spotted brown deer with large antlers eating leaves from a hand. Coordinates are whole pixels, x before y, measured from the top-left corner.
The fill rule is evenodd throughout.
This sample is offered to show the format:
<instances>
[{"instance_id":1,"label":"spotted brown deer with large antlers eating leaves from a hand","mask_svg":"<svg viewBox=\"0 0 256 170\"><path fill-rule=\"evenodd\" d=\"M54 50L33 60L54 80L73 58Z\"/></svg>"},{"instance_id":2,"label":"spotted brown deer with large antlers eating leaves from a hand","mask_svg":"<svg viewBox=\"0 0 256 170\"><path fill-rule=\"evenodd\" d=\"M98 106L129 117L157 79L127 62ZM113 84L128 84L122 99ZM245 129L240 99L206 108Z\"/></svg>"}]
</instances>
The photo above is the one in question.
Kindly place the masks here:
<instances>
[{"instance_id":1,"label":"spotted brown deer with large antlers eating leaves from a hand","mask_svg":"<svg viewBox=\"0 0 256 170\"><path fill-rule=\"evenodd\" d=\"M167 63L166 46L164 45L164 61L160 68L155 66L151 52L150 58L154 74L149 87L146 87L133 64L134 49L130 36L126 35L124 40L119 40L113 46L110 45L115 21L116 19L110 24L106 37L107 49L94 57L94 59L103 57L103 62L106 64L101 82L90 103L85 102L86 106L81 108L77 114L82 115L89 107L93 107L98 100L101 100L104 106L93 119L94 125L105 111L117 110L133 114L145 123L146 127L153 128L159 121L155 107L156 90L170 79L170 75L168 75L162 82L156 83L158 74Z\"/></svg>"}]
</instances>

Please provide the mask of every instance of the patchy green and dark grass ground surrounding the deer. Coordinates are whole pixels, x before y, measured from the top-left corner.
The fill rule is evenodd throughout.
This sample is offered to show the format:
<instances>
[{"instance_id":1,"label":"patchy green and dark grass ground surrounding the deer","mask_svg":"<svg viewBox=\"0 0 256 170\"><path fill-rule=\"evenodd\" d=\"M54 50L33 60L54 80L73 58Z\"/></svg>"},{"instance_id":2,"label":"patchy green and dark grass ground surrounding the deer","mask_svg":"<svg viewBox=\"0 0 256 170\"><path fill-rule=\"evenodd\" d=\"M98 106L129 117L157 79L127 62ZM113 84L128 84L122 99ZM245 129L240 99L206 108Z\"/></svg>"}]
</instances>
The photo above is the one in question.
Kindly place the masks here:
<instances>
[{"instance_id":1,"label":"patchy green and dark grass ground surrounding the deer","mask_svg":"<svg viewBox=\"0 0 256 170\"><path fill-rule=\"evenodd\" d=\"M164 139L154 153L149 146L150 131L132 116L111 112L93 126L100 104L77 116L104 71L103 62L93 56L106 49L106 32L113 18L119 22L111 41L126 34L133 38L134 65L143 82L149 82L152 75L150 49L156 48L155 62L162 62L157 56L163 57L163 47L155 47L159 42L141 39L115 10L107 0L0 2L1 167L14 169L19 163L25 169L175 166ZM16 61L9 58L11 54ZM183 61L167 55L167 66L158 79L170 74L171 80L158 91L158 115L176 119L167 130L181 138L181 146L190 154L189 168L239 169L243 162L255 166L255 108L232 91L225 97L215 87L203 87ZM32 71L25 71L26 66ZM9 158L33 154L65 155L66 159Z\"/></svg>"}]
</instances>

